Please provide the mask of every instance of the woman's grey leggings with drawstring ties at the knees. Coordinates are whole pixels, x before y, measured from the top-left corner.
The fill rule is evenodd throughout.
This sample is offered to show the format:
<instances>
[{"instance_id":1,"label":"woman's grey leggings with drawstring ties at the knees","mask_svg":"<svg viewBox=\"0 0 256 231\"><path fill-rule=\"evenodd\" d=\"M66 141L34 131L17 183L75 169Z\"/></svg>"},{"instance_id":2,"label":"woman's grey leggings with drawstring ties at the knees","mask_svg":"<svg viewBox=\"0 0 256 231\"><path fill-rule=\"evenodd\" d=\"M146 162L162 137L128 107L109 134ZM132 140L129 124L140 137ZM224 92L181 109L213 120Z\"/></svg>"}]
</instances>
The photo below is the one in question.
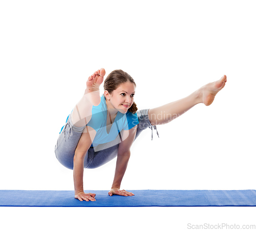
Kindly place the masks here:
<instances>
[{"instance_id":1,"label":"woman's grey leggings with drawstring ties at the knees","mask_svg":"<svg viewBox=\"0 0 256 231\"><path fill-rule=\"evenodd\" d=\"M137 125L137 132L134 140L136 140L140 133L147 127L151 128L153 139L153 127L156 130L156 125L151 125L150 120L148 119L148 110L149 109L143 109L137 112L139 124ZM75 149L84 127L86 126L74 126L70 115L67 123L63 127L63 130L59 134L55 145L55 155L57 160L69 169L73 169ZM84 158L84 168L97 168L113 160L117 157L119 142L120 137L118 135L116 139L111 142L99 144L96 147L90 147L87 151L86 157Z\"/></svg>"}]
</instances>

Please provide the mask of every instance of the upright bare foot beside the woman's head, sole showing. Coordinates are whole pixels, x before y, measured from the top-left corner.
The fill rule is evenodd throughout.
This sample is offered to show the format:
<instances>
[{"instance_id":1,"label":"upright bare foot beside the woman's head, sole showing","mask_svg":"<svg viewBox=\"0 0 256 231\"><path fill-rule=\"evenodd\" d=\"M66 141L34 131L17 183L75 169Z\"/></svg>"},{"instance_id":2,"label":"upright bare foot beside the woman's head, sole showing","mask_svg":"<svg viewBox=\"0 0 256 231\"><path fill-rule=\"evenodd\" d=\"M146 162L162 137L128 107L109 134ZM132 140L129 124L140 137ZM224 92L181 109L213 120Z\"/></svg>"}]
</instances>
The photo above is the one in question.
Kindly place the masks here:
<instances>
[{"instance_id":1,"label":"upright bare foot beside the woman's head, sole showing","mask_svg":"<svg viewBox=\"0 0 256 231\"><path fill-rule=\"evenodd\" d=\"M105 75L105 69L95 71L86 82L87 88L84 94L89 94L89 99L93 106L100 104L99 86L102 84Z\"/></svg>"}]
</instances>

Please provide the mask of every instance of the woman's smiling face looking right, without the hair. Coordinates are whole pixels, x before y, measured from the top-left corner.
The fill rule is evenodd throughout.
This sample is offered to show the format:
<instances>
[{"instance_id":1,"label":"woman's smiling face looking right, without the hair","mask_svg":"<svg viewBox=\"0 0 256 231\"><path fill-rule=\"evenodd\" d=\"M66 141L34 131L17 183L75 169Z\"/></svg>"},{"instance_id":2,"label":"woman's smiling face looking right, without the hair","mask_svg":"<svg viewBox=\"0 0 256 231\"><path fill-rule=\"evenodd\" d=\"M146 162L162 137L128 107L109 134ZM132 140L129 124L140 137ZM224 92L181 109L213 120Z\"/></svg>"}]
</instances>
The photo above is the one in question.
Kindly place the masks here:
<instances>
[{"instance_id":1,"label":"woman's smiling face looking right, without the hair","mask_svg":"<svg viewBox=\"0 0 256 231\"><path fill-rule=\"evenodd\" d=\"M135 84L130 81L120 84L116 90L109 94L105 91L105 97L108 100L109 109L117 109L119 112L125 114L129 108L133 105Z\"/></svg>"}]
</instances>

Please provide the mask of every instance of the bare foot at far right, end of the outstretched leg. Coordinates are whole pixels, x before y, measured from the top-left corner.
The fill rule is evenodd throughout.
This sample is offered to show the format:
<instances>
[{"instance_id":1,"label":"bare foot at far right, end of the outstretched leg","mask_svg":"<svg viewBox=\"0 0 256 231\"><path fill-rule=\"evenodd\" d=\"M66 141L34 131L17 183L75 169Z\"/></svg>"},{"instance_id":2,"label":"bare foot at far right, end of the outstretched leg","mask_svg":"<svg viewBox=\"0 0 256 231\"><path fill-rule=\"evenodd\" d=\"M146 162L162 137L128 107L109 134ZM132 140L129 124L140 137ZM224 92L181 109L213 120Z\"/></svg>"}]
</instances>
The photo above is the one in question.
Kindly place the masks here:
<instances>
[{"instance_id":1,"label":"bare foot at far right, end of the outstretched leg","mask_svg":"<svg viewBox=\"0 0 256 231\"><path fill-rule=\"evenodd\" d=\"M211 105L216 94L225 87L226 82L227 76L224 75L220 80L201 87L201 102L206 106Z\"/></svg>"}]
</instances>

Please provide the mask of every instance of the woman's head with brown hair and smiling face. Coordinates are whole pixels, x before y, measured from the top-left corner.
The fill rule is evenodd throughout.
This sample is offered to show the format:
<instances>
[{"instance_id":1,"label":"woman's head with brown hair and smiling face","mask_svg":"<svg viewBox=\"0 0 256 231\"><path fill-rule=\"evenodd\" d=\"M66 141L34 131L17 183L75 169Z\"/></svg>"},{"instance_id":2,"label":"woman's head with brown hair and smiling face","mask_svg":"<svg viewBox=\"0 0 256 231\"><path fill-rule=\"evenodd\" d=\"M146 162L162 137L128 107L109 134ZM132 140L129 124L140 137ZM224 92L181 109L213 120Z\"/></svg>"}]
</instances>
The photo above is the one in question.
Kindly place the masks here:
<instances>
[{"instance_id":1,"label":"woman's head with brown hair and smiling face","mask_svg":"<svg viewBox=\"0 0 256 231\"><path fill-rule=\"evenodd\" d=\"M134 102L136 84L130 74L123 70L113 70L104 81L104 96L113 108L126 113L135 113L138 108ZM127 106L127 107L125 107Z\"/></svg>"}]
</instances>

